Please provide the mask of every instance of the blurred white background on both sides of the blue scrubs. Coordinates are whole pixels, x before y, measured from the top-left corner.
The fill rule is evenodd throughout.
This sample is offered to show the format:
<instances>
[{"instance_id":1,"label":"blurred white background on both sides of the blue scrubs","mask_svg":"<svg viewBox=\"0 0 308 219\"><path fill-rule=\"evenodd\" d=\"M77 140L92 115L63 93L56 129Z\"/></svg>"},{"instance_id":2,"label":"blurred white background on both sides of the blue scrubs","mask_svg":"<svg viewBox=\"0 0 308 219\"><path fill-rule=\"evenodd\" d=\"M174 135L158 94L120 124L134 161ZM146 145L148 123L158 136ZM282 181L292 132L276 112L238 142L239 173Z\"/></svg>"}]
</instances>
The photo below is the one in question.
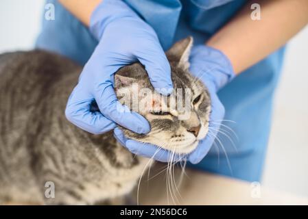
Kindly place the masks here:
<instances>
[{"instance_id":1,"label":"blurred white background on both sides of the blue scrubs","mask_svg":"<svg viewBox=\"0 0 308 219\"><path fill-rule=\"evenodd\" d=\"M0 53L32 49L43 0L1 0ZM270 36L269 36L270 37ZM276 92L263 185L308 196L308 27L290 42Z\"/></svg>"}]
</instances>

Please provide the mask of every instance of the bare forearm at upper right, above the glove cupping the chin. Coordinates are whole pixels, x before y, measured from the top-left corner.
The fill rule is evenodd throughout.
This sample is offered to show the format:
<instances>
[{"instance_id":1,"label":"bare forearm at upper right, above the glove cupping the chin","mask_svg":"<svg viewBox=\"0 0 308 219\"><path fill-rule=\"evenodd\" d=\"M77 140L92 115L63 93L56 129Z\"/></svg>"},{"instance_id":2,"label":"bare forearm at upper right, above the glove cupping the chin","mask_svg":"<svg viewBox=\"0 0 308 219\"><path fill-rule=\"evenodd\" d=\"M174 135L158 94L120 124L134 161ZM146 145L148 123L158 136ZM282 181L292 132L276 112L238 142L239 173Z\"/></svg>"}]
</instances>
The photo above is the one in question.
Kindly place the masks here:
<instances>
[{"instance_id":1,"label":"bare forearm at upper right, above the glove cupping the chin","mask_svg":"<svg viewBox=\"0 0 308 219\"><path fill-rule=\"evenodd\" d=\"M252 3L261 5L260 21L250 17ZM279 49L307 23L307 0L249 1L206 45L222 51L238 74Z\"/></svg>"}]
</instances>

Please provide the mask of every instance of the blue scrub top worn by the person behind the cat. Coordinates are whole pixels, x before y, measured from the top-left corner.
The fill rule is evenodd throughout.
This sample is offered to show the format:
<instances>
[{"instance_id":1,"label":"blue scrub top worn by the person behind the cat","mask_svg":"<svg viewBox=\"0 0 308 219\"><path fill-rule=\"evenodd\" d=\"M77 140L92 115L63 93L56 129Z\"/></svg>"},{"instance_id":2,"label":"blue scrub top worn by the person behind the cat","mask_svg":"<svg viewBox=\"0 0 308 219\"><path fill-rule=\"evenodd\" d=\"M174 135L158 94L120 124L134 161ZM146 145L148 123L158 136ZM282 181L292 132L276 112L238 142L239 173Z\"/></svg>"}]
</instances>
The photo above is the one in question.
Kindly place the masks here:
<instances>
[{"instance_id":1,"label":"blue scrub top worn by the person behind the cat","mask_svg":"<svg viewBox=\"0 0 308 219\"><path fill-rule=\"evenodd\" d=\"M244 0L124 1L155 29L164 49L189 35L195 44L206 42L246 3ZM47 2L55 5L55 20L43 19L36 47L85 64L97 41L60 3ZM223 125L233 129L237 137L226 127L222 131L231 136L235 146L221 133L218 137L228 157L217 141L202 162L191 166L247 181L260 180L270 133L273 93L284 50L283 47L275 51L220 90L218 95L226 107L225 120L233 121L224 121Z\"/></svg>"}]
</instances>

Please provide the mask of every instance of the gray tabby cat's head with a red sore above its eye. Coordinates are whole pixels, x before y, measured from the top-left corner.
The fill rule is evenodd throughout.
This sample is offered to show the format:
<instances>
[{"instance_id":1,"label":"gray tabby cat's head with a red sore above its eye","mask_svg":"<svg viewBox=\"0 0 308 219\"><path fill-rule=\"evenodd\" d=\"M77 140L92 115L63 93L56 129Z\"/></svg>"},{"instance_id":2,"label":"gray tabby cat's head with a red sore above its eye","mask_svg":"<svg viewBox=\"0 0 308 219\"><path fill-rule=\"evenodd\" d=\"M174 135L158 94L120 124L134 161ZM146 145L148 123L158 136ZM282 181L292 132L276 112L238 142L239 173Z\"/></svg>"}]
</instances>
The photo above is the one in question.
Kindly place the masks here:
<instances>
[{"instance_id":1,"label":"gray tabby cat's head with a red sore above its eye","mask_svg":"<svg viewBox=\"0 0 308 219\"><path fill-rule=\"evenodd\" d=\"M180 40L166 53L174 86L171 96L162 96L154 90L140 63L117 71L115 90L119 101L144 116L151 127L147 134L121 128L127 138L187 154L206 136L210 96L202 82L189 73L192 42L191 37Z\"/></svg>"}]
</instances>

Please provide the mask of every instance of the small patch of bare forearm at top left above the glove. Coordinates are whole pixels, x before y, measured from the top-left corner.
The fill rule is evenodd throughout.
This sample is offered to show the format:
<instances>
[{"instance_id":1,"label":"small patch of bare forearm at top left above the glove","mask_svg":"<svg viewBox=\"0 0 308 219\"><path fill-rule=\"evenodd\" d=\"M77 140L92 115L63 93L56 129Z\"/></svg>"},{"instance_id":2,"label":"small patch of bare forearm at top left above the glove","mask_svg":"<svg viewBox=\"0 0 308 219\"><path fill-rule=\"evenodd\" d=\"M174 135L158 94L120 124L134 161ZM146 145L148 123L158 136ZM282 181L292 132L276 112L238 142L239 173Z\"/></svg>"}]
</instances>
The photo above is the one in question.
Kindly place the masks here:
<instances>
[{"instance_id":1,"label":"small patch of bare forearm at top left above the glove","mask_svg":"<svg viewBox=\"0 0 308 219\"><path fill-rule=\"evenodd\" d=\"M93 10L102 0L59 0L59 2L84 25L88 26Z\"/></svg>"}]
</instances>

